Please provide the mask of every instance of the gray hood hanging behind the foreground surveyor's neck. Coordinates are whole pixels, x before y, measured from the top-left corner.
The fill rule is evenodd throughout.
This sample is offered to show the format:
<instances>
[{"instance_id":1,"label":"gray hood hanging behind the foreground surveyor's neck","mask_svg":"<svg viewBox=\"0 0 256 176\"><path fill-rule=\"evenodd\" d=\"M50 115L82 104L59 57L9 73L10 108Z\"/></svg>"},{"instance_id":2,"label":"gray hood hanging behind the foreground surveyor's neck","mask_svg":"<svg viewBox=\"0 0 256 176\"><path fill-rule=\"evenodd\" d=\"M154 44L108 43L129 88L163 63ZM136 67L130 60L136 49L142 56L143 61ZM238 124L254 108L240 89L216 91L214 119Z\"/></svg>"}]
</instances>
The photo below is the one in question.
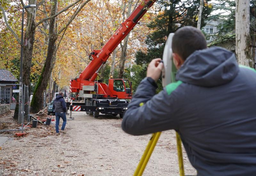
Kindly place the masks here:
<instances>
[{"instance_id":1,"label":"gray hood hanging behind the foreground surveyor's neck","mask_svg":"<svg viewBox=\"0 0 256 176\"><path fill-rule=\"evenodd\" d=\"M227 84L239 71L236 57L221 47L193 52L177 72L176 80L204 87Z\"/></svg>"}]
</instances>

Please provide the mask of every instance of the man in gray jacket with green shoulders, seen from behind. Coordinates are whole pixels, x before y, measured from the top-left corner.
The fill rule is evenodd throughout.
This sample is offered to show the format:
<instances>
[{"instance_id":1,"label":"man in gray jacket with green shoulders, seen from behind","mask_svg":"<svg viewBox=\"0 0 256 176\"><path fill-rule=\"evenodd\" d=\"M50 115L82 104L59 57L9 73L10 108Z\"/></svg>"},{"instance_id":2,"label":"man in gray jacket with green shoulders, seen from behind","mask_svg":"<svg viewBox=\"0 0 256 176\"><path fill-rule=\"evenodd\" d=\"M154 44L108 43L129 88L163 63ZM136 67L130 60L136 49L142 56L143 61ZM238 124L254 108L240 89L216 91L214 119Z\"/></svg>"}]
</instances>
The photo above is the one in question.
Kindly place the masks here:
<instances>
[{"instance_id":1,"label":"man in gray jacket with green shoulders, seen from behind","mask_svg":"<svg viewBox=\"0 0 256 176\"><path fill-rule=\"evenodd\" d=\"M224 48L207 48L193 27L176 31L172 50L177 82L155 95L163 64L152 60L124 114L123 130L176 130L198 175L255 175L255 70L238 66Z\"/></svg>"}]
</instances>

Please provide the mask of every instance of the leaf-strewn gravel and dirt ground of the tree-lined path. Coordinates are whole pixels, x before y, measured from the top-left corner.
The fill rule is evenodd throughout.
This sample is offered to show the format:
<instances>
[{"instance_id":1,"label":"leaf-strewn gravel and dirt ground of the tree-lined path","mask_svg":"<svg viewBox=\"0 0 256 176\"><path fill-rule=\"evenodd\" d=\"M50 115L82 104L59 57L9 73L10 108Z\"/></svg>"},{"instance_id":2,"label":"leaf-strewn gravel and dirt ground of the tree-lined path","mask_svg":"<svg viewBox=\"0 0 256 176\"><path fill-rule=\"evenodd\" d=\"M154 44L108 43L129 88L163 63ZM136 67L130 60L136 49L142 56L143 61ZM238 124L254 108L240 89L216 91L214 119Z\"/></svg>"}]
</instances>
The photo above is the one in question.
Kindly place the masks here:
<instances>
[{"instance_id":1,"label":"leaf-strewn gravel and dirt ground of the tree-lined path","mask_svg":"<svg viewBox=\"0 0 256 176\"><path fill-rule=\"evenodd\" d=\"M22 138L0 133L10 137L1 146L0 175L133 175L151 135L124 133L118 116L95 119L73 112L72 117L75 120L67 121L67 133L59 136L54 124L28 128ZM185 174L196 175L185 152L183 158ZM174 131L161 134L143 175L179 175Z\"/></svg>"}]
</instances>

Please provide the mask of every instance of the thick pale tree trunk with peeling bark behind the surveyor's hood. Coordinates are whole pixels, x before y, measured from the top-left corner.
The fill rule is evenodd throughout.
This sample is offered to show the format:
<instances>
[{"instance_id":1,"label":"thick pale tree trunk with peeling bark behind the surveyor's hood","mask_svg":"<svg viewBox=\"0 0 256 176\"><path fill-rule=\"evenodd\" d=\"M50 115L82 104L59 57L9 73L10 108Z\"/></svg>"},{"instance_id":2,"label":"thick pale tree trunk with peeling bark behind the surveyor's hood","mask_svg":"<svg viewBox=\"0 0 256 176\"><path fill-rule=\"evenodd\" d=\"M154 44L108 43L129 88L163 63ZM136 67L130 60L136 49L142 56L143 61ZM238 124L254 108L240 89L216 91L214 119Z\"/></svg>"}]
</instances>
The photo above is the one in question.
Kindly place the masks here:
<instances>
[{"instance_id":1,"label":"thick pale tree trunk with peeling bark behind the surveyor's hood","mask_svg":"<svg viewBox=\"0 0 256 176\"><path fill-rule=\"evenodd\" d=\"M236 0L236 57L239 64L253 68L249 12L250 0Z\"/></svg>"}]
</instances>

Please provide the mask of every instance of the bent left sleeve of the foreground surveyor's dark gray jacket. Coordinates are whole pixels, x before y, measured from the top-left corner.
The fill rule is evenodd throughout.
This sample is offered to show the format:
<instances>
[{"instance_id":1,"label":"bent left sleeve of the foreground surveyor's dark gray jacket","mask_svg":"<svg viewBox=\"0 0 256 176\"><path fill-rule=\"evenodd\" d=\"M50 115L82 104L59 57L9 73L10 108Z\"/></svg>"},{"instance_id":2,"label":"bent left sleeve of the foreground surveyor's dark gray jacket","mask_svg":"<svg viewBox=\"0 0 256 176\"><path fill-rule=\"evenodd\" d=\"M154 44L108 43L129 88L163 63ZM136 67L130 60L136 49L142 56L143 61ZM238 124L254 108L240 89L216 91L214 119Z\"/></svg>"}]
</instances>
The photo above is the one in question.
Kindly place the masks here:
<instances>
[{"instance_id":1,"label":"bent left sleeve of the foreground surveyor's dark gray jacket","mask_svg":"<svg viewBox=\"0 0 256 176\"><path fill-rule=\"evenodd\" d=\"M165 88L155 95L156 87L146 78L140 82L128 109L125 111L122 129L132 135L143 135L178 129L174 117L175 95L168 95ZM143 103L143 106L140 106Z\"/></svg>"}]
</instances>

